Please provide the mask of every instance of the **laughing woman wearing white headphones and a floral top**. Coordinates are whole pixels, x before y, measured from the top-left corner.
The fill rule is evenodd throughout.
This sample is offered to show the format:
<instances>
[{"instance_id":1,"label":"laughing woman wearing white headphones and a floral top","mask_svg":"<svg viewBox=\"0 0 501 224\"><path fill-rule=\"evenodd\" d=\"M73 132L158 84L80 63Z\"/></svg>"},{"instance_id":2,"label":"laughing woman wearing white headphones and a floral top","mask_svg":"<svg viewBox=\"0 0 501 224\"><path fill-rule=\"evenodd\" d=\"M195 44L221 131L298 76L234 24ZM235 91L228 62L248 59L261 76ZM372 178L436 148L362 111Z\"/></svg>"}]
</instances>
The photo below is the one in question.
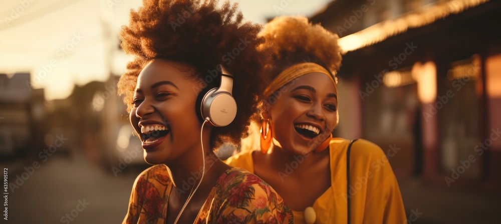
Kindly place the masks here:
<instances>
[{"instance_id":1,"label":"laughing woman wearing white headphones and a floral top","mask_svg":"<svg viewBox=\"0 0 501 224\"><path fill-rule=\"evenodd\" d=\"M292 223L273 188L213 152L247 135L264 89L261 28L242 19L214 0L145 0L131 11L120 38L134 60L119 94L155 165L135 180L123 223Z\"/></svg>"}]
</instances>

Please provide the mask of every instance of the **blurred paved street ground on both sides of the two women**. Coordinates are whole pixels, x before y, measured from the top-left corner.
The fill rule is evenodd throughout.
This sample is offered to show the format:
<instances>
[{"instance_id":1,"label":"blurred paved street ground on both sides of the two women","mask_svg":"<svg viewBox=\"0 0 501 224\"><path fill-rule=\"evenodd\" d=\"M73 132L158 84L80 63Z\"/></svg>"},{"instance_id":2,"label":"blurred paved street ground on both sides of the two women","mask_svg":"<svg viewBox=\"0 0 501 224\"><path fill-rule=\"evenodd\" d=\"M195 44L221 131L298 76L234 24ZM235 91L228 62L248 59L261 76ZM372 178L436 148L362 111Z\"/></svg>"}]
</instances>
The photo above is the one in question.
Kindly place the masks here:
<instances>
[{"instance_id":1,"label":"blurred paved street ground on both sides of the two women","mask_svg":"<svg viewBox=\"0 0 501 224\"><path fill-rule=\"evenodd\" d=\"M90 164L83 156L54 155L46 162L3 163L9 167L9 182L15 183L16 175L26 178L24 166L33 161L39 161L40 168L14 193L9 190L9 222L2 223L120 223L132 183L145 168L127 167L115 177L111 168ZM419 179L399 184L409 224L498 223L493 221L501 213L498 193L448 189Z\"/></svg>"}]
</instances>

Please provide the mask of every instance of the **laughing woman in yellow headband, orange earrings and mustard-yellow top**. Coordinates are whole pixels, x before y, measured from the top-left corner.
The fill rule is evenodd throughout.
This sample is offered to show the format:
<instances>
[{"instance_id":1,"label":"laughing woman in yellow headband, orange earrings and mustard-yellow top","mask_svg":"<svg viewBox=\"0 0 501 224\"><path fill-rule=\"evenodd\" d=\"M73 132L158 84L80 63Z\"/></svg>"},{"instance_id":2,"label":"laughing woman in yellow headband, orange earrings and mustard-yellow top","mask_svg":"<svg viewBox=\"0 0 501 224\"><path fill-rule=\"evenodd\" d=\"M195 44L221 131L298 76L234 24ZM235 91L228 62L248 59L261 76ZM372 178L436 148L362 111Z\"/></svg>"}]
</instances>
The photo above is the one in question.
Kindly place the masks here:
<instances>
[{"instance_id":1,"label":"laughing woman in yellow headband, orange earrings and mustard-yellow top","mask_svg":"<svg viewBox=\"0 0 501 224\"><path fill-rule=\"evenodd\" d=\"M293 209L294 223L405 223L381 148L332 137L339 120L337 35L304 17L276 18L262 35L274 54L260 144L242 145L226 162L273 186Z\"/></svg>"}]
</instances>

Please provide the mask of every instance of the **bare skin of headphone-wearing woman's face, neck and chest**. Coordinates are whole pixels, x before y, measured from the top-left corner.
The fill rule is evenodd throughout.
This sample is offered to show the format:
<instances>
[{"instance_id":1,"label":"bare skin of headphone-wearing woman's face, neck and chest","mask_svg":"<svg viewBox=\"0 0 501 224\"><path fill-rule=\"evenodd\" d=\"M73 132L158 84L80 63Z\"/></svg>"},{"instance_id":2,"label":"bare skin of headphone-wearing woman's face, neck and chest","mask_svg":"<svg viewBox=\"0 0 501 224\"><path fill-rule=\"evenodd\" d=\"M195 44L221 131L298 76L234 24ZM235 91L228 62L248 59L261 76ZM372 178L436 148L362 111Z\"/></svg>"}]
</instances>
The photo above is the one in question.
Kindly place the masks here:
<instances>
[{"instance_id":1,"label":"bare skin of headphone-wearing woman's face, neck and chest","mask_svg":"<svg viewBox=\"0 0 501 224\"><path fill-rule=\"evenodd\" d=\"M169 168L169 177L174 186L182 189L183 180L192 177L191 172L197 172L202 167L200 129L194 105L198 93L193 92L193 86L198 85L189 79L186 72L179 68L188 66L177 62L155 59L141 71L134 93L134 105L129 118L132 127L141 133L140 122L157 122L166 124L169 134L156 147L144 150L144 159L149 164L165 164ZM171 84L156 85L168 81ZM178 223L193 223L200 208L205 202L217 178L230 166L217 159L210 148L209 136L211 127L205 124L203 128L203 149L205 160L211 158L213 163L206 164L205 174L200 187L190 200ZM139 134L139 136L141 136ZM144 141L145 139L141 139ZM209 166L212 167L209 169ZM207 171L208 170L208 171ZM195 183L198 184L198 181ZM167 223L174 223L182 206L188 199L190 190L185 193L176 192L172 187L169 195Z\"/></svg>"}]
</instances>

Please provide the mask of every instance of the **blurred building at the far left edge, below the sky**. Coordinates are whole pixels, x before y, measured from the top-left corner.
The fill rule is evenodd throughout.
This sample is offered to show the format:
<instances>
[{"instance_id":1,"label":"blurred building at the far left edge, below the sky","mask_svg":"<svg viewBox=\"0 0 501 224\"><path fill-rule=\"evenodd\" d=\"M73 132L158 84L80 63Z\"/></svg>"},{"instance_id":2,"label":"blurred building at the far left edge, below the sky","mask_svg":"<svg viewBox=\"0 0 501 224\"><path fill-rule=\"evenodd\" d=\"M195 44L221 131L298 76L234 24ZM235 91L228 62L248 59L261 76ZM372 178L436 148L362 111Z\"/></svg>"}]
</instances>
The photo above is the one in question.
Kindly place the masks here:
<instances>
[{"instance_id":1,"label":"blurred building at the far left edge, below the sky","mask_svg":"<svg viewBox=\"0 0 501 224\"><path fill-rule=\"evenodd\" d=\"M45 97L32 89L29 73L0 74L0 156L26 156L44 147Z\"/></svg>"}]
</instances>

